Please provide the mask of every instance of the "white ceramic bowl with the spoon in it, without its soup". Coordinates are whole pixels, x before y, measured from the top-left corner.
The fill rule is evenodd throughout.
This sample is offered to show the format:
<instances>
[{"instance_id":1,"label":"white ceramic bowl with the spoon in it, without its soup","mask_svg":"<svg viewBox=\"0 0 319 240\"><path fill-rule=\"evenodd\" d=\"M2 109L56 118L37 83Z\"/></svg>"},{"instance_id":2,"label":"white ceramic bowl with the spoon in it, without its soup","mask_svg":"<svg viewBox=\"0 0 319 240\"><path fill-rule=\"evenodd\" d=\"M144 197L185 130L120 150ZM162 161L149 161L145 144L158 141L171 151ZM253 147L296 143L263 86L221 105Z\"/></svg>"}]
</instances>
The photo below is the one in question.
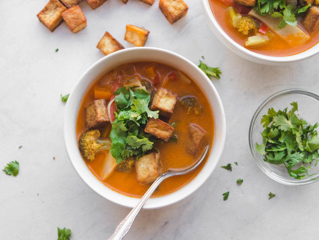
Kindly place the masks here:
<instances>
[{"instance_id":1,"label":"white ceramic bowl with the spoon in it, without its soup","mask_svg":"<svg viewBox=\"0 0 319 240\"><path fill-rule=\"evenodd\" d=\"M209 159L203 169L191 182L180 190L163 197L150 198L144 205L144 209L154 209L182 200L197 190L208 179L215 169L224 148L226 120L224 108L219 95L209 78L195 64L174 52L159 48L136 47L120 50L100 59L82 75L72 90L65 106L63 126L66 151L74 169L82 180L100 196L116 204L130 208L134 207L139 200L138 198L128 197L111 190L100 182L86 166L78 149L76 136L76 120L78 117L80 102L91 84L93 84L93 82L99 79L103 74L106 74L116 66L135 61L161 62L174 66L188 74L206 95L211 105L215 121L213 147L211 149Z\"/></svg>"}]
</instances>

